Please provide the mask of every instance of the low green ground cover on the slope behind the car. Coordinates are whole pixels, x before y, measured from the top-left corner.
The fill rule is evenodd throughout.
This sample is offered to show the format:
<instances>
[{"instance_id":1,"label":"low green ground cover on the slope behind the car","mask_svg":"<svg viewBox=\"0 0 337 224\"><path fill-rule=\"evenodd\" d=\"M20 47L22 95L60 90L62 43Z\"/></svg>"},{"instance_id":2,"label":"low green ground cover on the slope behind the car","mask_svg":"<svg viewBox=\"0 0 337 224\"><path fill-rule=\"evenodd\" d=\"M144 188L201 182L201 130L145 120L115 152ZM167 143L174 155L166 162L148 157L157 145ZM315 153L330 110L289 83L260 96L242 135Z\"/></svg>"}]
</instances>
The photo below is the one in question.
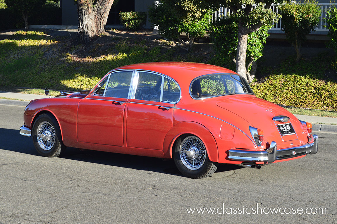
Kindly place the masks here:
<instances>
[{"instance_id":1,"label":"low green ground cover on the slope behind the car","mask_svg":"<svg viewBox=\"0 0 337 224\"><path fill-rule=\"evenodd\" d=\"M210 43L195 43L194 50L186 52L151 31L112 30L88 45L73 45L75 35L52 36L49 32L0 35L0 91L18 87L92 89L111 69L133 63L190 61L221 65L214 60ZM336 74L326 76L333 69L330 60L327 55L318 55L295 63L294 57L288 57L278 61L276 67L258 65L259 73L251 87L257 97L277 104L337 110Z\"/></svg>"}]
</instances>

